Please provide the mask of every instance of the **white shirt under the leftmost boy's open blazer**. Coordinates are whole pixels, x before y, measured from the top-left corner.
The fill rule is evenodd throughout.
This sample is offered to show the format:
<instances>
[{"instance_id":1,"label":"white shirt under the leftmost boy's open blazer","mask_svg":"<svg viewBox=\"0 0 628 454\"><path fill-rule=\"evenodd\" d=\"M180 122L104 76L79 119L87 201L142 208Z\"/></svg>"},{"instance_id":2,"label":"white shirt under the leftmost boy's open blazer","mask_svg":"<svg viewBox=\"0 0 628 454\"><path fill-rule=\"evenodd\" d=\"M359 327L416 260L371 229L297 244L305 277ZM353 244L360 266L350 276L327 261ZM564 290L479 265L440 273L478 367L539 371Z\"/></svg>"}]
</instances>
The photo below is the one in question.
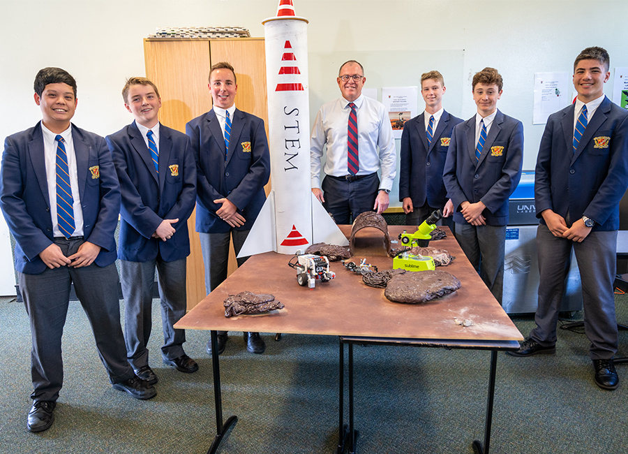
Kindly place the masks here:
<instances>
[{"instance_id":1,"label":"white shirt under the leftmost boy's open blazer","mask_svg":"<svg viewBox=\"0 0 628 454\"><path fill-rule=\"evenodd\" d=\"M48 198L50 198L50 216L52 217L52 234L54 237L64 237L59 230L57 222L57 137L56 133L47 129L41 122L41 132L44 141L44 157L46 165L46 180L48 183ZM70 188L74 203L74 226L73 237L83 236L83 210L81 209L81 196L78 190L78 177L76 171L76 154L74 152L74 142L72 141L72 125L61 133L61 137L66 142L66 155L68 156L68 170L70 172Z\"/></svg>"}]
</instances>

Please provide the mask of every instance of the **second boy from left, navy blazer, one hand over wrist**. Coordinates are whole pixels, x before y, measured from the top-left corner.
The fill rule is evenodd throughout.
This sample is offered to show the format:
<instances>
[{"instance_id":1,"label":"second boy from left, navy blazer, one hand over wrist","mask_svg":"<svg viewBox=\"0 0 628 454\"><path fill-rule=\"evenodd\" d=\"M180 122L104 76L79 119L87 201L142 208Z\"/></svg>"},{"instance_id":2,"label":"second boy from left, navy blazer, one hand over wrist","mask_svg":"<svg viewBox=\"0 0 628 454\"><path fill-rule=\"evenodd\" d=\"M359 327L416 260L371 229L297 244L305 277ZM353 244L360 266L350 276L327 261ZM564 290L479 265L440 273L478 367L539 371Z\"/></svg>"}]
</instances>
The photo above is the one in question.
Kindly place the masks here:
<instances>
[{"instance_id":1,"label":"second boy from left, navy blazer, one hand over wrist","mask_svg":"<svg viewBox=\"0 0 628 454\"><path fill-rule=\"evenodd\" d=\"M107 136L122 194L118 258L124 295L124 337L135 375L151 384L151 305L157 269L163 346L161 358L181 372L195 372L186 355L184 330L173 325L186 314L188 217L196 198L196 163L188 136L159 123L159 91L147 78L130 78L122 89L135 122Z\"/></svg>"}]
</instances>

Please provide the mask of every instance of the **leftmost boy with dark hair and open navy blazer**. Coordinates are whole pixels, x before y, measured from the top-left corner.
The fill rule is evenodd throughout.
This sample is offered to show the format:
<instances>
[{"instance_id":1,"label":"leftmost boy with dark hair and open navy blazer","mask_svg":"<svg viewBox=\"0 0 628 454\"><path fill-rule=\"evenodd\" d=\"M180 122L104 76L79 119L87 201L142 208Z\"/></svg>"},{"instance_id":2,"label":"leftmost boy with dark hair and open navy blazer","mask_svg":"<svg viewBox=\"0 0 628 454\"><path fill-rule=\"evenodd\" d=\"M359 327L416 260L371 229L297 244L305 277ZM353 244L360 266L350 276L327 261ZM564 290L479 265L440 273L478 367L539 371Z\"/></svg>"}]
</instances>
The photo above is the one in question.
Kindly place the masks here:
<instances>
[{"instance_id":1,"label":"leftmost boy with dark hair and open navy blazer","mask_svg":"<svg viewBox=\"0 0 628 454\"><path fill-rule=\"evenodd\" d=\"M61 68L35 78L42 120L8 136L0 207L15 237L15 270L31 324L31 432L47 430L63 386L61 335L70 285L94 331L114 389L150 399L155 388L126 361L120 326L114 231L120 187L105 140L70 123L76 82Z\"/></svg>"}]
</instances>

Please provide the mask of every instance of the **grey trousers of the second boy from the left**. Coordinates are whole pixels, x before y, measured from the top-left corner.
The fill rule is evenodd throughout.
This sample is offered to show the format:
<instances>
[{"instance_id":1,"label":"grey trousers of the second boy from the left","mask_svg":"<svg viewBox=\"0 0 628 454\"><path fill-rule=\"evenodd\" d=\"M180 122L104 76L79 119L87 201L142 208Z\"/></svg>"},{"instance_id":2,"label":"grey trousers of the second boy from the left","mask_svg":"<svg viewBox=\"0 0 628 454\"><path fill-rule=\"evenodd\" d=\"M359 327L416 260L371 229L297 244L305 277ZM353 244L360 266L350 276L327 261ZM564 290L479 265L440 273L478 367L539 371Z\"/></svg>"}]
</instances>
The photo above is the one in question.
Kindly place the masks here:
<instances>
[{"instance_id":1,"label":"grey trousers of the second boy from the left","mask_svg":"<svg viewBox=\"0 0 628 454\"><path fill-rule=\"evenodd\" d=\"M173 360L185 353L186 332L175 330L173 325L186 314L186 259L172 262L163 261L160 257L146 262L121 260L124 339L126 356L133 369L149 365L147 345L151 337L155 268L163 328L161 356L165 360Z\"/></svg>"}]
</instances>

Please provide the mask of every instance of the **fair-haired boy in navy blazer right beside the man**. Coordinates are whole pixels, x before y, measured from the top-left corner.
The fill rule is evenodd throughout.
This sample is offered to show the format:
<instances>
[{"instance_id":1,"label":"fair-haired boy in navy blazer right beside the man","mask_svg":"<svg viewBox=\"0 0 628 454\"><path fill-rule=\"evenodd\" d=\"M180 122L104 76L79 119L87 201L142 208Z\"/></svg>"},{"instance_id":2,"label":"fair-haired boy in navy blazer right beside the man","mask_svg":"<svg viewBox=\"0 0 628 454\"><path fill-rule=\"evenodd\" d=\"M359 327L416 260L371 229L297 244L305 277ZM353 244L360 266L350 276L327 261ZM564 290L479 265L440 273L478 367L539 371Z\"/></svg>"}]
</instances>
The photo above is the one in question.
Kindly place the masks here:
<instances>
[{"instance_id":1,"label":"fair-haired boy in navy blazer right beside the man","mask_svg":"<svg viewBox=\"0 0 628 454\"><path fill-rule=\"evenodd\" d=\"M405 224L418 225L435 210L442 210L443 224L454 230L454 205L447 198L442 170L451 140L451 131L462 119L442 108L444 80L438 71L421 74L421 95L425 110L403 126L399 200Z\"/></svg>"}]
</instances>

